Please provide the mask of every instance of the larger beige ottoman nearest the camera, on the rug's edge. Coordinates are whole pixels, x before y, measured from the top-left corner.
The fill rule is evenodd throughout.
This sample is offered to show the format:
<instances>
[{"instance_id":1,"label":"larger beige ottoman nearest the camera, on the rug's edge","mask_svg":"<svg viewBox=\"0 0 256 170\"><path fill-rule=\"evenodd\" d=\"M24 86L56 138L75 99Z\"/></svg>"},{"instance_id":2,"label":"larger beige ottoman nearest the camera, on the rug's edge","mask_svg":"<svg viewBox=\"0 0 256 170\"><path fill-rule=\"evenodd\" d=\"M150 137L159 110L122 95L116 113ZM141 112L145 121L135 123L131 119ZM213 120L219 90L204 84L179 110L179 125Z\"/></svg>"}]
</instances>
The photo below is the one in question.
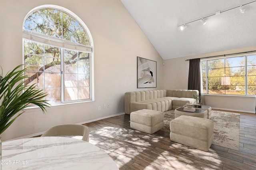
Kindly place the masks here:
<instances>
[{"instance_id":1,"label":"larger beige ottoman nearest the camera, on the rug's edge","mask_svg":"<svg viewBox=\"0 0 256 170\"><path fill-rule=\"evenodd\" d=\"M193 148L208 151L213 141L213 121L181 115L170 122L170 139Z\"/></svg>"}]
</instances>

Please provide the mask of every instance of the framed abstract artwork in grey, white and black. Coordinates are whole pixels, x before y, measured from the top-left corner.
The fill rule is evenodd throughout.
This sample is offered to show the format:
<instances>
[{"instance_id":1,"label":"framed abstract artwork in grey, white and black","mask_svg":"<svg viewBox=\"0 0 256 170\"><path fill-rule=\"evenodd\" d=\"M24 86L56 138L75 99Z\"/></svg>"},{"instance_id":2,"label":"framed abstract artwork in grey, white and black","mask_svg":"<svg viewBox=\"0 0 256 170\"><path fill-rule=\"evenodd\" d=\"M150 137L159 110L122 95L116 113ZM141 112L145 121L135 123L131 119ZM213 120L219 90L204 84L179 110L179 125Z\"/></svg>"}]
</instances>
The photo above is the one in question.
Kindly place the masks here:
<instances>
[{"instance_id":1,"label":"framed abstract artwork in grey, white and black","mask_svg":"<svg viewBox=\"0 0 256 170\"><path fill-rule=\"evenodd\" d=\"M137 57L137 88L156 87L156 61Z\"/></svg>"}]
</instances>

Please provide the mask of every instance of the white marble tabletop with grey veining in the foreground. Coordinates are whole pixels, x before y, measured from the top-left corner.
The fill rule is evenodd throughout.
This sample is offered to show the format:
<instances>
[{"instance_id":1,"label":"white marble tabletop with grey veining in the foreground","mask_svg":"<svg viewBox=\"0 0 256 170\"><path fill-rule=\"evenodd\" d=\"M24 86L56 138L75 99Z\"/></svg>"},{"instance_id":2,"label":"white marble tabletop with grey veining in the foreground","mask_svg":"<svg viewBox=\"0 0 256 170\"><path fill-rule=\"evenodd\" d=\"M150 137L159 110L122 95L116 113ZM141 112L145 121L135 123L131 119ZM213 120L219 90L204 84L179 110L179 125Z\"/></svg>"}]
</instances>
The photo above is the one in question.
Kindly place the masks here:
<instances>
[{"instance_id":1,"label":"white marble tabletop with grey veining in the foreground","mask_svg":"<svg viewBox=\"0 0 256 170\"><path fill-rule=\"evenodd\" d=\"M67 137L36 137L2 142L2 169L118 170L97 146Z\"/></svg>"}]
</instances>

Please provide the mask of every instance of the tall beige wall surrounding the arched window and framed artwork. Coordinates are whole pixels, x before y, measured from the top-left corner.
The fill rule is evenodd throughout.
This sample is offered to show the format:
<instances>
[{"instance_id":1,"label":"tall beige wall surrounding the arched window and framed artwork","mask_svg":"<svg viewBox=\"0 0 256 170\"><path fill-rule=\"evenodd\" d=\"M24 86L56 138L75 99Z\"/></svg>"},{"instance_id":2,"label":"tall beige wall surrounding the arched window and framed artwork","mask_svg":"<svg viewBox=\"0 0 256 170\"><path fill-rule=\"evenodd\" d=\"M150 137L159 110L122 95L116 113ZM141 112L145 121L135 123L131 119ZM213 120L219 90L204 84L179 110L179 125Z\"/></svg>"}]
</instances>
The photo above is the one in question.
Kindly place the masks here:
<instances>
[{"instance_id":1,"label":"tall beige wall surrounding the arched window and framed artwork","mask_svg":"<svg viewBox=\"0 0 256 170\"><path fill-rule=\"evenodd\" d=\"M124 93L146 90L136 88L137 56L157 61L156 89L163 89L163 59L119 0L1 1L0 65L4 74L22 64L22 22L30 10L44 4L63 6L88 26L94 41L95 101L52 106L45 115L40 109L28 109L0 135L3 141L40 134L57 124L123 113ZM110 107L103 109L103 104Z\"/></svg>"}]
</instances>

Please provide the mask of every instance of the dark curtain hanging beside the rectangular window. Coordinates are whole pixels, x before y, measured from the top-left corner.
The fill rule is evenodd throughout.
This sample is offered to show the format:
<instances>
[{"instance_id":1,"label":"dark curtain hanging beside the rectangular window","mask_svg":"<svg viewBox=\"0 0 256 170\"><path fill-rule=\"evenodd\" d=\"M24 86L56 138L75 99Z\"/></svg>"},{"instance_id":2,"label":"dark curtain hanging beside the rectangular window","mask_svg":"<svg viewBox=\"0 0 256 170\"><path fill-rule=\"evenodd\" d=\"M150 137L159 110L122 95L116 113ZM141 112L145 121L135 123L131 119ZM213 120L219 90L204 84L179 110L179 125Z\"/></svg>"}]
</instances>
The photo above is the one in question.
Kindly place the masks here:
<instances>
[{"instance_id":1,"label":"dark curtain hanging beside the rectangular window","mask_svg":"<svg viewBox=\"0 0 256 170\"><path fill-rule=\"evenodd\" d=\"M198 90L201 95L200 58L189 60L188 90Z\"/></svg>"}]
</instances>

